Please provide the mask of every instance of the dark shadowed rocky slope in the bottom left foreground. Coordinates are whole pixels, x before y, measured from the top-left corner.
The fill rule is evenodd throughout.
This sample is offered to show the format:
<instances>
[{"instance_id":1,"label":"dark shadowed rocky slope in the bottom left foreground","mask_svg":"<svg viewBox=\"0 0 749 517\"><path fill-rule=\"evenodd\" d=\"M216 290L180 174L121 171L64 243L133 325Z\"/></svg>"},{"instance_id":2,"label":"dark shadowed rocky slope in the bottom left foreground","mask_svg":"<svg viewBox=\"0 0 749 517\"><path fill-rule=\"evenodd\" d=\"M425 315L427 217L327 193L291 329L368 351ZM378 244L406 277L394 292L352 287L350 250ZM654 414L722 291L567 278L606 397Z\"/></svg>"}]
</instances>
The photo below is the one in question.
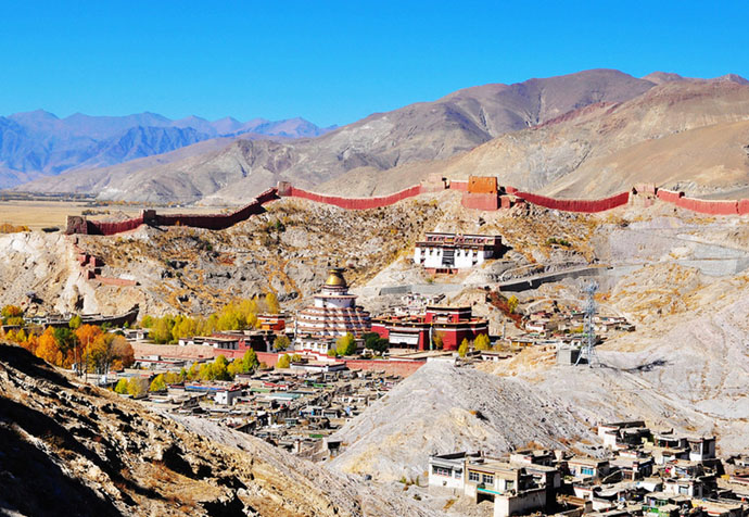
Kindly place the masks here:
<instances>
[{"instance_id":1,"label":"dark shadowed rocky slope in the bottom left foreground","mask_svg":"<svg viewBox=\"0 0 749 517\"><path fill-rule=\"evenodd\" d=\"M252 437L186 425L0 344L2 513L439 515Z\"/></svg>"}]
</instances>

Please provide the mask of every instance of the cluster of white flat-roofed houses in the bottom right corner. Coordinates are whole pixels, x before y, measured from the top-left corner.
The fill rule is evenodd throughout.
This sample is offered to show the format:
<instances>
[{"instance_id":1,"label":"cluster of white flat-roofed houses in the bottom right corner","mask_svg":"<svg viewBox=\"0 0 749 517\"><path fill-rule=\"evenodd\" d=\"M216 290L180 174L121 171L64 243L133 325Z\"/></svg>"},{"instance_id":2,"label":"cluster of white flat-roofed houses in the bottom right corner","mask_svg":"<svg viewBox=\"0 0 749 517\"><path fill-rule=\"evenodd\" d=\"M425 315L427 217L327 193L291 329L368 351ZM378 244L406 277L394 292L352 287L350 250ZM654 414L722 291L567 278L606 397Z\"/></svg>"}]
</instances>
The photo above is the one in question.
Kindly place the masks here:
<instances>
[{"instance_id":1,"label":"cluster of white flat-roofed houses in the bottom right corner","mask_svg":"<svg viewBox=\"0 0 749 517\"><path fill-rule=\"evenodd\" d=\"M605 457L522 450L429 458L429 487L494 504L494 517L749 515L749 458L723 462L714 437L651 431L644 421L598 427Z\"/></svg>"}]
</instances>

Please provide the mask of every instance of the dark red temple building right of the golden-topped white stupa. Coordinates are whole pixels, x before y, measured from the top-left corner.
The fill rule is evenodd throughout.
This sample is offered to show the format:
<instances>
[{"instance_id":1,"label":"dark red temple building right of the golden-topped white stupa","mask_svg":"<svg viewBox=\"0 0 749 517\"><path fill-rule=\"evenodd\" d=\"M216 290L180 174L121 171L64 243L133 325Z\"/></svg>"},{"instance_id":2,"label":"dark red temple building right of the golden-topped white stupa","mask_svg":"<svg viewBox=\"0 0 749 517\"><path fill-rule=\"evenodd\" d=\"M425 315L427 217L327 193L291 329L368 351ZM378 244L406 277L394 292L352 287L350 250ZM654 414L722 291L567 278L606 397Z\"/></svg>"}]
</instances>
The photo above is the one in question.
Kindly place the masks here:
<instances>
[{"instance_id":1,"label":"dark red temple building right of the golden-topped white stupa","mask_svg":"<svg viewBox=\"0 0 749 517\"><path fill-rule=\"evenodd\" d=\"M417 316L372 318L372 332L390 341L391 346L430 350L434 338L442 338L443 350L457 350L464 339L472 341L488 335L488 321L474 318L471 307L427 307Z\"/></svg>"}]
</instances>

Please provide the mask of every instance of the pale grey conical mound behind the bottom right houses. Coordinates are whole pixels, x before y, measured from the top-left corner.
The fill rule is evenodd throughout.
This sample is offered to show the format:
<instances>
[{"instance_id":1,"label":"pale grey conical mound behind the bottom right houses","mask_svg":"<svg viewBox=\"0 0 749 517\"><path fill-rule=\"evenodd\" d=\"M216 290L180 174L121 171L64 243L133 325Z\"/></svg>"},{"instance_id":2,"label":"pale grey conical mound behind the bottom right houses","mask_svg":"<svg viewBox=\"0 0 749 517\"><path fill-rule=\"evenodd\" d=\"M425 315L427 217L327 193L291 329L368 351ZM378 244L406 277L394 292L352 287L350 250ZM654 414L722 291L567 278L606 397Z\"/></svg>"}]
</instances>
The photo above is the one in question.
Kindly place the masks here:
<instances>
[{"instance_id":1,"label":"pale grey conical mound behind the bottom right houses","mask_svg":"<svg viewBox=\"0 0 749 517\"><path fill-rule=\"evenodd\" d=\"M595 441L572 406L449 360L427 363L333 437L347 446L331 467L380 481L423 478L430 454Z\"/></svg>"}]
</instances>

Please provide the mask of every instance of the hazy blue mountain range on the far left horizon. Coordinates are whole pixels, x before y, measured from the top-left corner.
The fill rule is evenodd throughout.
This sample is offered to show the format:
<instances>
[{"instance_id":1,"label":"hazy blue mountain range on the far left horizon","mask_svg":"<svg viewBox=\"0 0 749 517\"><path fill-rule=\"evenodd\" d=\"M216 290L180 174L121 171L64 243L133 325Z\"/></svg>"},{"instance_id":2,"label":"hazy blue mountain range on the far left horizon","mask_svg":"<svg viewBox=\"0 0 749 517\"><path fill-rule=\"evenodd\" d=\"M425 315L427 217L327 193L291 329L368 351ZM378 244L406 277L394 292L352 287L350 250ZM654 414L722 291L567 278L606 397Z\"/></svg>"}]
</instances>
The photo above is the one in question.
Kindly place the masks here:
<instances>
[{"instance_id":1,"label":"hazy blue mountain range on the far left horizon","mask_svg":"<svg viewBox=\"0 0 749 517\"><path fill-rule=\"evenodd\" d=\"M218 137L308 138L325 134L304 118L239 122L155 113L59 118L38 110L0 116L0 188L65 171L106 167Z\"/></svg>"}]
</instances>

